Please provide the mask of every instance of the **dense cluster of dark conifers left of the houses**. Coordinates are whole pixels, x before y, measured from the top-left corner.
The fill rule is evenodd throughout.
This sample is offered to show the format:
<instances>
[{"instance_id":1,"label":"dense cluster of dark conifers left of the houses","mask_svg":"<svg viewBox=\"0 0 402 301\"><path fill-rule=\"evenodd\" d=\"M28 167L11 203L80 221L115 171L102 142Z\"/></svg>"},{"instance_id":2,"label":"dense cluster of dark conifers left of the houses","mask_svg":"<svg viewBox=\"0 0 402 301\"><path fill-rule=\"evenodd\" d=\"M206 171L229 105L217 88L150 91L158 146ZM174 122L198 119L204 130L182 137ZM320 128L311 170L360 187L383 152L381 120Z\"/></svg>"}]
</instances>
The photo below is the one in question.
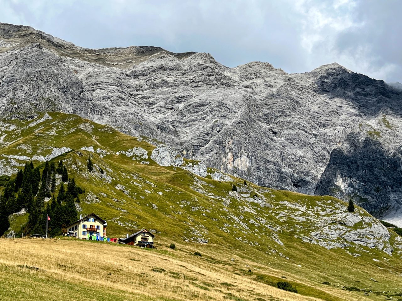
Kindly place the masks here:
<instances>
[{"instance_id":1,"label":"dense cluster of dark conifers left of the houses","mask_svg":"<svg viewBox=\"0 0 402 301\"><path fill-rule=\"evenodd\" d=\"M0 186L4 187L0 195L0 236L10 227L9 216L24 208L29 214L27 223L21 226L25 235L45 234L46 214L50 217L48 233L53 236L64 232L77 219L76 203L80 202L79 195L84 190L76 185L74 178L68 177L62 160L57 166L54 161L46 161L42 172L41 167L27 162L14 177L0 176ZM56 187L56 174L62 179L59 187ZM46 197L51 199L45 202Z\"/></svg>"}]
</instances>

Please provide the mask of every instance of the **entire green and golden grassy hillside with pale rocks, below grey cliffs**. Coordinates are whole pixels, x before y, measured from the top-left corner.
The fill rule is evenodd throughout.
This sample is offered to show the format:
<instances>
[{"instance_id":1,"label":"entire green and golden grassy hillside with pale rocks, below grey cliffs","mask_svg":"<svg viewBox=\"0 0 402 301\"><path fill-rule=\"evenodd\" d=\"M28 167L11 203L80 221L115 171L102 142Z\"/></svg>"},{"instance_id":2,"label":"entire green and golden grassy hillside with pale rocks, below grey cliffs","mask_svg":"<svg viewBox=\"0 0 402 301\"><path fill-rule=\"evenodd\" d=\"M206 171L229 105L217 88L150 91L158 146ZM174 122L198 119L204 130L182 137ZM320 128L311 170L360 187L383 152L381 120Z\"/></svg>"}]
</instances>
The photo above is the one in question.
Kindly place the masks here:
<instances>
[{"instance_id":1,"label":"entire green and golden grassy hillside with pale rocks, below grey cliffs","mask_svg":"<svg viewBox=\"0 0 402 301\"><path fill-rule=\"evenodd\" d=\"M53 160L63 159L70 176L86 190L80 212L106 219L109 237L147 228L156 234L158 250L76 240L1 240L2 287L18 295L25 283L25 295L18 299L402 298L396 296L402 293L400 236L388 233L364 209L356 206L349 214L347 203L333 197L277 191L234 177L215 181L211 175L161 167L149 159L155 146L142 139L74 115L42 117L2 121L0 169L12 173L33 156L59 154L64 148ZM133 148L146 150L148 159L133 155ZM92 173L86 167L88 156ZM26 220L26 214L12 215L10 231L18 236ZM172 242L179 250L168 250ZM196 251L202 258L192 255ZM94 267L98 274L92 279ZM297 295L273 287L284 279ZM80 280L83 285L77 285ZM90 297L98 287L94 283L101 287L101 297ZM33 290L37 285L41 289Z\"/></svg>"}]
</instances>

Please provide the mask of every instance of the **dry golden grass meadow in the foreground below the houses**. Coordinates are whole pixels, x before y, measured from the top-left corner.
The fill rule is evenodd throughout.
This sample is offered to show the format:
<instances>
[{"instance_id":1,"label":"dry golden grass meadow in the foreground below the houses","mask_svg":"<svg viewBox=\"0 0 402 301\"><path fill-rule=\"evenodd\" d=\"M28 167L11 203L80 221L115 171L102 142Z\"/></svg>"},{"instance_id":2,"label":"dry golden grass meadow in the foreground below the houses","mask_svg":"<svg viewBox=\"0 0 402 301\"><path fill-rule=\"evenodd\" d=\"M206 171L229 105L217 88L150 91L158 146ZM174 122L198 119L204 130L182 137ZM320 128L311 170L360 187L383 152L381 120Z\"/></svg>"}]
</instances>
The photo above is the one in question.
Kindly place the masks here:
<instances>
[{"instance_id":1,"label":"dry golden grass meadow in the foreground below the houses","mask_svg":"<svg viewBox=\"0 0 402 301\"><path fill-rule=\"evenodd\" d=\"M1 239L1 300L322 300L236 273L255 263L230 259L213 251L194 256L185 245L170 250L163 242L147 250L74 239ZM364 299L334 287L321 293L326 300Z\"/></svg>"}]
</instances>

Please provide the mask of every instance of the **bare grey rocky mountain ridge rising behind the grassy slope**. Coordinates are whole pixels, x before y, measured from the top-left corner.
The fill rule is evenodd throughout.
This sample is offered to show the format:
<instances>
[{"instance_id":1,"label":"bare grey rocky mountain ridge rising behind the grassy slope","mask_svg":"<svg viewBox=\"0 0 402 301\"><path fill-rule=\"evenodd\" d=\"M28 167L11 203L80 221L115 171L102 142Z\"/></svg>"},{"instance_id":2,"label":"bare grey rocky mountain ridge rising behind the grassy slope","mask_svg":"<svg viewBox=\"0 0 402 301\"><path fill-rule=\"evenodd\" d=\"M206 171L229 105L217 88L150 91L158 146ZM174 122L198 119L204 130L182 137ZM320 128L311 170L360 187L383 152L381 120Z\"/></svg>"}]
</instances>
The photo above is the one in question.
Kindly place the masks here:
<instances>
[{"instance_id":1,"label":"bare grey rocky mountain ridge rising behind the grassy slope","mask_svg":"<svg viewBox=\"0 0 402 301\"><path fill-rule=\"evenodd\" d=\"M228 68L207 53L84 49L0 24L2 117L77 114L257 185L353 198L399 226L401 99L336 63Z\"/></svg>"}]
</instances>

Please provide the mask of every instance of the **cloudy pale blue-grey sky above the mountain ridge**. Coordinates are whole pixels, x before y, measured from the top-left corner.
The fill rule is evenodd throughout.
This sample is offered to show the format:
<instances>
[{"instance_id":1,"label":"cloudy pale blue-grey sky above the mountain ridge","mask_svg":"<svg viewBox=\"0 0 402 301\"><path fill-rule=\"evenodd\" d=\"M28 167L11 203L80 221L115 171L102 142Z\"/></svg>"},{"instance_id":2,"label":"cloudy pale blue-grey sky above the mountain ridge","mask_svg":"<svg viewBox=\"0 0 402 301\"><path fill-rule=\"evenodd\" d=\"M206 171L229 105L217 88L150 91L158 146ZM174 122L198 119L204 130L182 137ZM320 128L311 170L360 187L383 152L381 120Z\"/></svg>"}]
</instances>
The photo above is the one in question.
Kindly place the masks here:
<instances>
[{"instance_id":1,"label":"cloudy pale blue-grey sky above the mountain ridge","mask_svg":"<svg viewBox=\"0 0 402 301\"><path fill-rule=\"evenodd\" d=\"M337 62L402 82L400 0L0 0L0 22L90 48L160 46L208 52L235 67L289 73Z\"/></svg>"}]
</instances>

